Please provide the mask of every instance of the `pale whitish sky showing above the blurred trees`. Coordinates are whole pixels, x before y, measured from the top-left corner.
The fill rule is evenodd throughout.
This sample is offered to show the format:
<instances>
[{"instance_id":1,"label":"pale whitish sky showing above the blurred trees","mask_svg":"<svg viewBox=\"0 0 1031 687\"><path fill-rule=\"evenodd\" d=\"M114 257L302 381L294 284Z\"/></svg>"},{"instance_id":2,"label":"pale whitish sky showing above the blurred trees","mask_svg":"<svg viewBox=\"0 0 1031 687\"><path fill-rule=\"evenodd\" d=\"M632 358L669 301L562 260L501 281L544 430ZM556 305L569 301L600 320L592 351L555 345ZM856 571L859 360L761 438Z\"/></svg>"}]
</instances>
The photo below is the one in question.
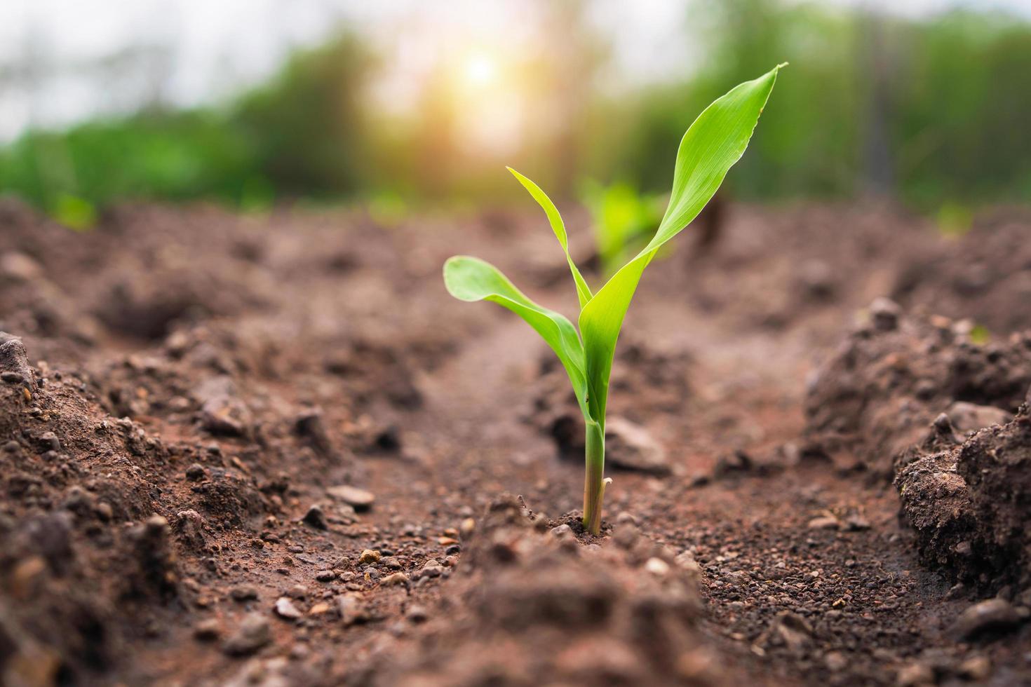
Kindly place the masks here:
<instances>
[{"instance_id":1,"label":"pale whitish sky showing above the blurred trees","mask_svg":"<svg viewBox=\"0 0 1031 687\"><path fill-rule=\"evenodd\" d=\"M823 1L913 15L966 6L1031 16L1031 0ZM594 0L587 7L591 24L613 42L616 78L690 69L683 0ZM403 105L435 56L457 41L532 45L539 10L527 0L0 0L0 140L30 122L62 125L132 110L155 95L155 83L162 99L178 105L224 98L342 22L385 49L381 88ZM145 55L114 59L132 48ZM495 78L488 51L470 48L470 56L472 82Z\"/></svg>"}]
</instances>

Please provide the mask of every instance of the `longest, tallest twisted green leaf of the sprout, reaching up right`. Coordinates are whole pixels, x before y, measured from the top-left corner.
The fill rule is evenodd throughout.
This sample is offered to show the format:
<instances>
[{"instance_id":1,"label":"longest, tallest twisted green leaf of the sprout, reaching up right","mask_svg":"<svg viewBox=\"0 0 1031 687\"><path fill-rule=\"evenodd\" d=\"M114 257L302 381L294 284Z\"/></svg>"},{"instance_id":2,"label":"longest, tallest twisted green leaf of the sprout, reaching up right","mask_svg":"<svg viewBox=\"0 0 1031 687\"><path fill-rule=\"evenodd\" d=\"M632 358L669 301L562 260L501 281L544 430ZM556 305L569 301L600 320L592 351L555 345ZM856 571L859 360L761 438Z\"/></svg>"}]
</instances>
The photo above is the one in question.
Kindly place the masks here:
<instances>
[{"instance_id":1,"label":"longest, tallest twisted green leaf of the sprout, reaching up right","mask_svg":"<svg viewBox=\"0 0 1031 687\"><path fill-rule=\"evenodd\" d=\"M641 274L656 251L701 212L727 172L744 154L783 66L735 87L698 115L680 141L673 192L655 237L580 311L589 411L603 428L616 342Z\"/></svg>"}]
</instances>

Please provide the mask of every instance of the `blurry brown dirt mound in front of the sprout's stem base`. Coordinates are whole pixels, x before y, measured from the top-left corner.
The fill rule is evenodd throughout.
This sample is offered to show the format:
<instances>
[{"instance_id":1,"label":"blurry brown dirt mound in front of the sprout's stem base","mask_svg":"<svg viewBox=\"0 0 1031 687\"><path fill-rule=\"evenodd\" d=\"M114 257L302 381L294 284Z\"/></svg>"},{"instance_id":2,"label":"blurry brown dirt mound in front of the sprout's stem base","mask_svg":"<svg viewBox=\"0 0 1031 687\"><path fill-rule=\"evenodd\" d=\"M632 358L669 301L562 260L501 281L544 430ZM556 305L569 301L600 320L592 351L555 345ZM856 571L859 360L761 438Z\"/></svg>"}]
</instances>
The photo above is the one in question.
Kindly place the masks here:
<instances>
[{"instance_id":1,"label":"blurry brown dirt mound in front of the sprout's stem base","mask_svg":"<svg viewBox=\"0 0 1031 687\"><path fill-rule=\"evenodd\" d=\"M572 525L572 527L570 526ZM418 648L383 657L385 685L728 684L746 679L698 629L698 564L632 525L577 541L516 499L491 505L455 581L464 603ZM580 534L580 538L586 536ZM454 606L454 603L451 604Z\"/></svg>"}]
</instances>

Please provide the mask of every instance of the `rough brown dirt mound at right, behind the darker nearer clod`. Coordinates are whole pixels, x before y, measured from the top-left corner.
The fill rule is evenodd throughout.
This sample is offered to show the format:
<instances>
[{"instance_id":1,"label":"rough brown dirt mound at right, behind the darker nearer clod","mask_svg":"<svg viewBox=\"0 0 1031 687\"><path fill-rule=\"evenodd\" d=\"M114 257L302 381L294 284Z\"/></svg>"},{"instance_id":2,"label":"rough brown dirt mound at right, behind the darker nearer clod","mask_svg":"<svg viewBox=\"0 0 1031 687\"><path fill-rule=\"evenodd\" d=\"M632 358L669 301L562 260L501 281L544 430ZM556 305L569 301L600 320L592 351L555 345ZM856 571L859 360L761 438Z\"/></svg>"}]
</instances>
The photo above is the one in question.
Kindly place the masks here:
<instances>
[{"instance_id":1,"label":"rough brown dirt mound at right, behind the darker nearer clod","mask_svg":"<svg viewBox=\"0 0 1031 687\"><path fill-rule=\"evenodd\" d=\"M810 381L807 450L890 479L939 413L979 430L1008 419L1029 387L1031 333L978 345L964 322L903 317L882 299Z\"/></svg>"}]
</instances>

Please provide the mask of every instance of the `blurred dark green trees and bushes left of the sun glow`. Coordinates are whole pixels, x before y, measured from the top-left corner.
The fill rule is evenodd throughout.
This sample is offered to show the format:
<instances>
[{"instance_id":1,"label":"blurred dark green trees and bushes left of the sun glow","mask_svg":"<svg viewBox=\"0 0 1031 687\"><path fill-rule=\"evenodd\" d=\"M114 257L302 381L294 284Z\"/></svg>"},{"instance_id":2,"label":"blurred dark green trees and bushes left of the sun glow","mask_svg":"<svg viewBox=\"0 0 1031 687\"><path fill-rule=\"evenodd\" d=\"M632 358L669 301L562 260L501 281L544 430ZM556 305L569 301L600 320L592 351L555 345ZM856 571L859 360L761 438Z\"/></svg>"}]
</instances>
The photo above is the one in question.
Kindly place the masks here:
<instances>
[{"instance_id":1,"label":"blurred dark green trees and bushes left of the sun glow","mask_svg":"<svg viewBox=\"0 0 1031 687\"><path fill-rule=\"evenodd\" d=\"M353 194L370 178L358 104L367 62L345 35L298 54L226 110L147 111L29 132L0 148L0 190L62 221L72 217L68 199L93 207L209 199L262 210L277 196Z\"/></svg>"}]
</instances>

